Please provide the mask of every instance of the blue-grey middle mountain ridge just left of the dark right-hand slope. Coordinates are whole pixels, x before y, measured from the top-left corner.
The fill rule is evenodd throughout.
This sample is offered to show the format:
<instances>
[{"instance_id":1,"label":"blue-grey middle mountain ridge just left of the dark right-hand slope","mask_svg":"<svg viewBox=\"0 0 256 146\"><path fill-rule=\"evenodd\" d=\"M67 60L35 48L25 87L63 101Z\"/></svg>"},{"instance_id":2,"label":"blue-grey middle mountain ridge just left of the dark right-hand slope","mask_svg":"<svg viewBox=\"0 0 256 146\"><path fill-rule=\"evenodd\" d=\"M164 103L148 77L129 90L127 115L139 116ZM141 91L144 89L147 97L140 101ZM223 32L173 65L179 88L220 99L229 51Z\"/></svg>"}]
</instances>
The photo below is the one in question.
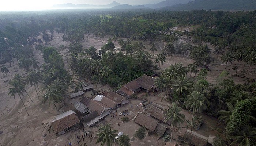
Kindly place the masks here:
<instances>
[{"instance_id":1,"label":"blue-grey middle mountain ridge just left of the dark right-hand slope","mask_svg":"<svg viewBox=\"0 0 256 146\"><path fill-rule=\"evenodd\" d=\"M145 6L151 9L156 9L156 8L162 8L162 7L168 7L168 6L173 6L176 4L186 4L190 1L194 1L194 0L166 0L166 1L162 1L160 3L157 4L146 4Z\"/></svg>"}]
</instances>

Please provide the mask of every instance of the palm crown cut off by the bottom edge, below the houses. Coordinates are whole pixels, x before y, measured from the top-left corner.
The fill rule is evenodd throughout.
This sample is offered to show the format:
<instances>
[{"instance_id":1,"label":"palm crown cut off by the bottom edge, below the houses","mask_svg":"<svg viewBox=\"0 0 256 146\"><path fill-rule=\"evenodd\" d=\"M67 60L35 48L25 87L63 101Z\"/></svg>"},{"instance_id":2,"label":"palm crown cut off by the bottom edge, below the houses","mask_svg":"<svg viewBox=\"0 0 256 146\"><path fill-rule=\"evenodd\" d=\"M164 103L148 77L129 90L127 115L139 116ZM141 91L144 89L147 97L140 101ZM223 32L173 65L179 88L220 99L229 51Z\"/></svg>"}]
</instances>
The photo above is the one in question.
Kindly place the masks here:
<instances>
[{"instance_id":1,"label":"palm crown cut off by the bottom edge, below the houses","mask_svg":"<svg viewBox=\"0 0 256 146\"><path fill-rule=\"evenodd\" d=\"M117 136L117 134L115 134L117 130L112 130L110 125L106 124L105 126L101 126L99 131L100 132L96 134L98 137L96 143L101 143L100 146L104 146L105 144L111 146Z\"/></svg>"}]
</instances>

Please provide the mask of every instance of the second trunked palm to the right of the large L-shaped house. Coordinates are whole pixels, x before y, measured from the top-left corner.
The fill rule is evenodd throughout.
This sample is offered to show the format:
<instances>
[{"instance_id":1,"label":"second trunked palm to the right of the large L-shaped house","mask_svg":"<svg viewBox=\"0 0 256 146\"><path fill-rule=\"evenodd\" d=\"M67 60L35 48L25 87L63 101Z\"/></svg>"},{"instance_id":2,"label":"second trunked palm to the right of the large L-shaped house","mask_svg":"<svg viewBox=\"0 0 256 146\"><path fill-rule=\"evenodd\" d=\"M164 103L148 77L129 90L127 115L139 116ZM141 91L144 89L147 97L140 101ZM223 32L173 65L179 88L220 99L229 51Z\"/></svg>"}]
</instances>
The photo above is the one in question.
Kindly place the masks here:
<instances>
[{"instance_id":1,"label":"second trunked palm to the right of the large L-shaped house","mask_svg":"<svg viewBox=\"0 0 256 146\"><path fill-rule=\"evenodd\" d=\"M171 82L172 82L171 87L176 89L176 92L179 92L179 95L180 95L178 100L178 105L179 105L182 91L186 91L188 88L191 88L193 86L192 81L187 80L186 76L181 76L181 77L178 77L176 80L172 79Z\"/></svg>"}]
</instances>

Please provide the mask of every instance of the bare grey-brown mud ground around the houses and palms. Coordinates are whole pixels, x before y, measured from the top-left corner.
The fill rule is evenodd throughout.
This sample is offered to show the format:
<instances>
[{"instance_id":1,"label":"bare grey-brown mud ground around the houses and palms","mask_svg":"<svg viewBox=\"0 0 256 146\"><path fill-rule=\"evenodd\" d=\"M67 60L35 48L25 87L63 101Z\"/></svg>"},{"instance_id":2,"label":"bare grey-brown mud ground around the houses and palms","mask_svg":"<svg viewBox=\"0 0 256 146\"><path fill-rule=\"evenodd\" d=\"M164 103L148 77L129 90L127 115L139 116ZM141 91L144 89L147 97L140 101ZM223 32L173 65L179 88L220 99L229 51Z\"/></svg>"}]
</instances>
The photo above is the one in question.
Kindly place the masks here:
<instances>
[{"instance_id":1,"label":"bare grey-brown mud ground around the houses and palms","mask_svg":"<svg viewBox=\"0 0 256 146\"><path fill-rule=\"evenodd\" d=\"M62 42L61 37L62 34L57 34L54 32L53 40L50 42L51 46L59 46L61 44L66 46L67 44ZM108 36L105 37L104 40L106 40L107 38ZM85 35L83 46L84 48L89 46L95 46L95 48L100 49L104 43L106 43L106 41L102 42L98 38L94 39L93 35ZM120 47L117 42L114 42L114 44L116 45L116 47ZM146 50L149 50L149 47L147 47L147 45L146 48ZM42 53L35 50L34 54L35 58L37 58L40 64L42 64ZM212 56L216 58L213 53ZM186 66L190 63L193 63L193 60L185 57L184 55L174 54L170 57L167 57L166 63L161 66L161 69L167 68L170 64L174 64L175 62L182 62ZM219 60L212 62L212 64L210 65L211 71L208 72L207 80L211 83L214 83L216 78L223 70L228 70L231 74L235 74L236 71L232 70L232 66L237 65L236 63L237 62L234 62L233 65L227 65L227 68L225 68L225 65L221 65ZM26 76L25 71L23 69L19 69L16 65L16 62L14 62L11 67L9 64L6 65L8 66L8 69L10 71L10 73L7 73L7 77L9 80L11 80L16 73L20 74L21 76ZM242 67L243 62L240 63L239 69L242 69ZM68 68L67 64L66 68ZM246 66L246 69L248 69L248 66ZM255 66L253 66L251 70L255 70ZM239 70L238 74L241 74ZM255 78L254 74L251 73L250 75L252 79ZM245 82L245 78L236 77L234 78L234 80L236 84L243 84ZM94 134L98 132L98 124L94 127L87 127L84 130L83 128L75 129L61 136L57 136L53 134L53 132L49 133L47 130L47 128L49 127L49 122L53 120L54 116L73 109L71 103L79 101L80 98L76 98L73 100L69 98L65 99L66 105L60 108L59 111L57 111L54 106L51 105L51 107L49 107L47 102L45 104L42 104L42 101L37 98L34 87L30 87L30 85L28 85L26 89L32 100L34 101L34 104L29 100L27 95L22 97L25 106L27 107L27 110L30 114L30 116L27 116L25 108L23 107L19 97L16 96L14 99L10 98L10 96L8 95L8 88L10 88L10 85L8 84L8 82L5 82L5 80L6 78L3 77L3 75L1 74L0 131L3 131L3 133L0 134L0 146L65 146L68 145L68 142L72 142L73 146L80 146L80 144L83 144L84 142L86 142L88 146L95 146L96 139L93 139L93 141L91 142L91 139L89 137L86 137L85 141L80 142L80 144L78 145L78 143L76 143L76 135L83 134L84 131L90 131L90 133L94 136ZM41 91L39 93L39 96L42 96L44 92L42 91L43 85L41 83L39 84L39 88ZM99 89L101 91L108 91L107 87ZM86 92L86 96L90 97L90 95L90 91ZM156 103L159 102L157 95L148 97L148 100ZM143 110L142 107L136 106L139 101L140 100L132 99L130 100L129 104L121 107L120 109L118 109L118 111L123 111L125 109L129 110L130 114L128 116L130 119L132 119L139 111ZM170 103L167 103L163 100L163 102L160 102L159 104L167 106ZM60 107L61 104L57 106ZM187 120L191 120L192 113L184 110L183 114L185 114ZM216 130L217 128L219 128L218 120L215 118L207 117L205 115L202 116L205 123L203 124L202 128L197 132L207 137L208 135L220 134ZM139 127L139 125L132 120L126 123L122 123L121 119L113 119L110 117L110 115L108 115L101 123L104 122L111 123L113 129L117 129L118 132L122 131L125 134L129 134L130 137L133 136L134 131ZM118 126L118 123L120 123L120 126ZM187 130L187 128L184 128L186 126L187 122L180 126L182 128L174 132L174 137L176 137L177 135L183 135L183 133ZM42 135L44 134L47 135L45 137L42 137ZM142 141L137 141L136 139L133 139L131 142L132 146L163 146L164 144L165 142L163 142L162 139L156 138L155 135L147 136Z\"/></svg>"}]
</instances>

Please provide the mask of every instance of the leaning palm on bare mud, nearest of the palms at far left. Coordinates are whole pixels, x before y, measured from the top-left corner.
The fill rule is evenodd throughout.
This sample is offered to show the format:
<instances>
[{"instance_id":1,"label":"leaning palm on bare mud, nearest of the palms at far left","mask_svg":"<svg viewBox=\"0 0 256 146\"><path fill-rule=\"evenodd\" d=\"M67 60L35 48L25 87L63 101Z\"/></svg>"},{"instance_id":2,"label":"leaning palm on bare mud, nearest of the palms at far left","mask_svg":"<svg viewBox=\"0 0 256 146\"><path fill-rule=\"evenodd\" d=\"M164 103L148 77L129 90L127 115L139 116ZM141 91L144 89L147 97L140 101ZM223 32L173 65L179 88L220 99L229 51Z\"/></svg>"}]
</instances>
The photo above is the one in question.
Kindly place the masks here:
<instances>
[{"instance_id":1,"label":"leaning palm on bare mud, nearest of the palms at far left","mask_svg":"<svg viewBox=\"0 0 256 146\"><path fill-rule=\"evenodd\" d=\"M11 97L13 96L14 98L15 98L16 93L18 93L19 97L20 97L20 95L24 96L22 92L24 91L25 85L19 84L19 82L17 82L17 81L11 81L10 84L12 85L12 87L8 89L9 90L8 95L11 95ZM27 109L26 109L21 97L20 97L20 100L22 101L22 104L27 112ZM27 115L29 116L28 112L27 112Z\"/></svg>"}]
</instances>

